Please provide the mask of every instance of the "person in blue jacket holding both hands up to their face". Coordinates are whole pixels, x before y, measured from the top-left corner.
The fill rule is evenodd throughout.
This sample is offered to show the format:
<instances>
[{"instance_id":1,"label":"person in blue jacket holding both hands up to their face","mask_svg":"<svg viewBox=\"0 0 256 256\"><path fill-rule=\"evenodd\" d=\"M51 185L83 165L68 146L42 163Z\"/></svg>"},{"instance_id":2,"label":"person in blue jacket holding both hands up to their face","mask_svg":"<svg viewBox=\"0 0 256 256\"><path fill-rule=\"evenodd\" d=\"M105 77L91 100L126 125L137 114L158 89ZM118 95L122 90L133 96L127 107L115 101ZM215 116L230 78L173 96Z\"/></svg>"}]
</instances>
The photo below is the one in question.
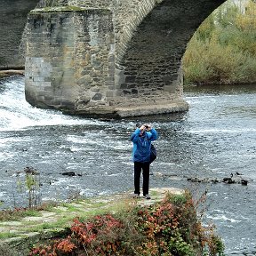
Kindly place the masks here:
<instances>
[{"instance_id":1,"label":"person in blue jacket holding both hands up to their face","mask_svg":"<svg viewBox=\"0 0 256 256\"><path fill-rule=\"evenodd\" d=\"M149 188L149 166L151 141L157 140L158 134L150 124L137 124L136 130L132 133L133 142L132 160L134 163L134 196L140 196L140 173L143 175L143 197L150 199Z\"/></svg>"}]
</instances>

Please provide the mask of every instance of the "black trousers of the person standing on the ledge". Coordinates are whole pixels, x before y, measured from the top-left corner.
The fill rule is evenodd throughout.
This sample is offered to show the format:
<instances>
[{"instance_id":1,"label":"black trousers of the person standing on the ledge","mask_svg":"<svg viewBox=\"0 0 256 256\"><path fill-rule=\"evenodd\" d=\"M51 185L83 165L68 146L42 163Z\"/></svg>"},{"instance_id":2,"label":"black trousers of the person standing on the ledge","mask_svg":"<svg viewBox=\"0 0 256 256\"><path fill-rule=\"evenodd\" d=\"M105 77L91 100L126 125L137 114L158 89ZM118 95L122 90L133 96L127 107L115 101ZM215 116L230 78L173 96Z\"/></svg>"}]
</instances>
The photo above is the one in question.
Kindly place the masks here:
<instances>
[{"instance_id":1,"label":"black trousers of the person standing on the ledge","mask_svg":"<svg viewBox=\"0 0 256 256\"><path fill-rule=\"evenodd\" d=\"M134 194L140 195L140 173L143 175L143 196L148 194L149 186L149 163L134 162Z\"/></svg>"}]
</instances>

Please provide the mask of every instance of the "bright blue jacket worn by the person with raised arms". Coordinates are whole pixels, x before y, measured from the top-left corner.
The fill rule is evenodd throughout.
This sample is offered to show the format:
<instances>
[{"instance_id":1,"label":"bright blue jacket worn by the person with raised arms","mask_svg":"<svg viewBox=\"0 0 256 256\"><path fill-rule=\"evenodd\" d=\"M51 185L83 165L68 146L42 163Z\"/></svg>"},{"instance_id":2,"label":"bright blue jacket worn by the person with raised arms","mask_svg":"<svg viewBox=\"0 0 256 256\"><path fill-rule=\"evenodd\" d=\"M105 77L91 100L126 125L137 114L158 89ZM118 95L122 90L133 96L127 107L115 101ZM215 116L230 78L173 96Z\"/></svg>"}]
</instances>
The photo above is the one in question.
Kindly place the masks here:
<instances>
[{"instance_id":1,"label":"bright blue jacket worn by the person with raised arms","mask_svg":"<svg viewBox=\"0 0 256 256\"><path fill-rule=\"evenodd\" d=\"M158 134L154 128L150 132L143 132L140 136L140 129L137 128L132 133L133 142L132 160L133 162L148 163L150 161L151 141L156 140Z\"/></svg>"}]
</instances>

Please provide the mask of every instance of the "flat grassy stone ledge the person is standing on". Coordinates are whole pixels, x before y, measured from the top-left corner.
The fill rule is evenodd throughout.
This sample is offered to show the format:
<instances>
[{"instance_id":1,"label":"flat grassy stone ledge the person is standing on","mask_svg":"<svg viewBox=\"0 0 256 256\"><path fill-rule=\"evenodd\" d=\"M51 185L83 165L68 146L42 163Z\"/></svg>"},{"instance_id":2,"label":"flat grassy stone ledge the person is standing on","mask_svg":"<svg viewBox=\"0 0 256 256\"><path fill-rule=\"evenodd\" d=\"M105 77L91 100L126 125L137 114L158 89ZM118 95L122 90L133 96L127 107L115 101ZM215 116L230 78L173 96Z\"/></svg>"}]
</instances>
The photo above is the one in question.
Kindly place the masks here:
<instances>
[{"instance_id":1,"label":"flat grassy stone ledge the person is standing on","mask_svg":"<svg viewBox=\"0 0 256 256\"><path fill-rule=\"evenodd\" d=\"M132 192L97 196L60 204L51 208L51 211L38 212L38 216L25 217L18 221L1 221L0 255L27 256L31 244L68 234L68 228L76 217L90 217L104 211L115 212L115 209L120 209L122 205L124 207L127 204L134 204L134 201L141 206L150 205L161 201L166 193L180 195L184 192L179 188L150 188L149 190L151 200L144 199L142 196L134 199ZM60 225L60 220L64 218L64 224Z\"/></svg>"}]
</instances>

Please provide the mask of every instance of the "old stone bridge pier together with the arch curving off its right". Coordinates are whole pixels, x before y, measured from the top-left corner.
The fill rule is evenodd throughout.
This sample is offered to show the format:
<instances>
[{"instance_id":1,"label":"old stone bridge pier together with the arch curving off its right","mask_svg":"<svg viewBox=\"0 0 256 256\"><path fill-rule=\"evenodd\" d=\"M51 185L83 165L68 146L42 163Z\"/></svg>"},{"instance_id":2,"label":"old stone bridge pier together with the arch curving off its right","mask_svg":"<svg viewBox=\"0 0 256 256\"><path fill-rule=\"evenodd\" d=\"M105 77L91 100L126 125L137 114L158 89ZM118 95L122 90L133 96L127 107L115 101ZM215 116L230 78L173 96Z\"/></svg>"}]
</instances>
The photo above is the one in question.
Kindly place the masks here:
<instances>
[{"instance_id":1,"label":"old stone bridge pier together with the arch curving off its right","mask_svg":"<svg viewBox=\"0 0 256 256\"><path fill-rule=\"evenodd\" d=\"M186 111L182 56L223 2L42 0L22 38L26 99L85 116Z\"/></svg>"}]
</instances>

